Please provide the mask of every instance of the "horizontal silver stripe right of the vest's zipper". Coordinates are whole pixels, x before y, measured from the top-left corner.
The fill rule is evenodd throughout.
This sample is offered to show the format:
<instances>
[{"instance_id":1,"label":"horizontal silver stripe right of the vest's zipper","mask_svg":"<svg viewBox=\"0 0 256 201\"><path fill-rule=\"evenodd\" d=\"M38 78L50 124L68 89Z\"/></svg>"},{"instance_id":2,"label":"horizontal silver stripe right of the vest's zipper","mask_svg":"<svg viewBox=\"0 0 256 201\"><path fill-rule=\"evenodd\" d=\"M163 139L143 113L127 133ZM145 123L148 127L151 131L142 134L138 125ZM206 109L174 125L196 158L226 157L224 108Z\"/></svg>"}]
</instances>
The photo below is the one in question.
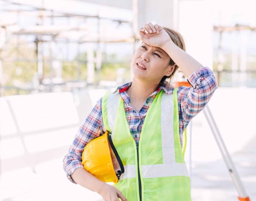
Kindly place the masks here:
<instances>
[{"instance_id":1,"label":"horizontal silver stripe right of the vest's zipper","mask_svg":"<svg viewBox=\"0 0 256 201\"><path fill-rule=\"evenodd\" d=\"M143 178L173 176L189 177L185 163L144 165L142 166L142 176Z\"/></svg>"}]
</instances>

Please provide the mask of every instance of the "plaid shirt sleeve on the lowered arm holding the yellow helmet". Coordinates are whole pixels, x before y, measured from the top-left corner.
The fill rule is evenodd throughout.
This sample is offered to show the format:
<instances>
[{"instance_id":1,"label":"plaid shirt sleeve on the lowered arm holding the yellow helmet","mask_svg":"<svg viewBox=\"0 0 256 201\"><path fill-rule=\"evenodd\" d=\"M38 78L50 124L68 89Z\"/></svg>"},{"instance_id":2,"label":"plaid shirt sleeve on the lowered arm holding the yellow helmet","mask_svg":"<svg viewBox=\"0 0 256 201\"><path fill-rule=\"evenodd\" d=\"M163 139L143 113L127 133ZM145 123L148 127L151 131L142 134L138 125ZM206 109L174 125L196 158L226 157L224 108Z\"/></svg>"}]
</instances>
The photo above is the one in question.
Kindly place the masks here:
<instances>
[{"instance_id":1,"label":"plaid shirt sleeve on the lowered arm holding the yellow helmet","mask_svg":"<svg viewBox=\"0 0 256 201\"><path fill-rule=\"evenodd\" d=\"M68 153L63 159L63 169L67 174L67 178L76 183L71 175L77 169L82 167L82 153L86 144L98 137L102 132L102 98L97 101L97 104L91 110L84 123L80 126L73 143L69 147Z\"/></svg>"}]
</instances>

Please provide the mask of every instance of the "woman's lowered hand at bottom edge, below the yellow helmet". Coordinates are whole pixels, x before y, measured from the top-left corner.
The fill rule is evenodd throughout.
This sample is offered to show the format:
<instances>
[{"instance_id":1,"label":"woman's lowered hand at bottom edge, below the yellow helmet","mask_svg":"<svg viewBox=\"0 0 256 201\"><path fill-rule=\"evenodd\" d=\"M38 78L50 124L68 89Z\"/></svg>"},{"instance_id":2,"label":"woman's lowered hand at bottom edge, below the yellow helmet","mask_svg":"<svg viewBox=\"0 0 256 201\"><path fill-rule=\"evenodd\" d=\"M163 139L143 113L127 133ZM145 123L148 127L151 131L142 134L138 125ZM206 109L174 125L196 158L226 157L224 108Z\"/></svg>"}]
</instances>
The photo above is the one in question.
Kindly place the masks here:
<instances>
[{"instance_id":1,"label":"woman's lowered hand at bottom edge, below the yellow helmet","mask_svg":"<svg viewBox=\"0 0 256 201\"><path fill-rule=\"evenodd\" d=\"M107 183L103 183L103 185L99 188L98 193L101 195L104 201L119 201L118 198L121 198L122 201L127 201L120 190Z\"/></svg>"}]
</instances>

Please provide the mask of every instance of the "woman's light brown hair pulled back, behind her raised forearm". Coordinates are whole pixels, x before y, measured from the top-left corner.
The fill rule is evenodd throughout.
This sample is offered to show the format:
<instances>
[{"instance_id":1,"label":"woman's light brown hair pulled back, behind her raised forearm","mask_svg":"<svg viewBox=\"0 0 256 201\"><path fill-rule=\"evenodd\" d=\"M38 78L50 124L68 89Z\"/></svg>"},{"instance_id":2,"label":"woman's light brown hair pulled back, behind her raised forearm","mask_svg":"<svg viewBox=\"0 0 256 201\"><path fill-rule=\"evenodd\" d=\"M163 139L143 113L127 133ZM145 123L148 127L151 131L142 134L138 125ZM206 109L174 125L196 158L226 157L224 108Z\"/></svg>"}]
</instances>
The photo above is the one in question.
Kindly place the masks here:
<instances>
[{"instance_id":1,"label":"woman's light brown hair pulled back, behind her raised forearm","mask_svg":"<svg viewBox=\"0 0 256 201\"><path fill-rule=\"evenodd\" d=\"M180 33L178 33L178 31L175 31L173 29L169 29L167 27L163 27L163 29L167 32L167 34L170 36L170 38L172 39L172 41L174 42L175 45L177 45L180 49L186 51L184 38L182 37L182 35ZM174 74L176 73L176 71L179 68L178 65L175 64L175 62L172 60L172 58L170 59L170 64L169 65L171 65L171 66L175 65L174 71L172 72L172 74L170 76L163 76L159 85L163 84L163 82L167 78L172 80L172 78L174 77Z\"/></svg>"}]
</instances>

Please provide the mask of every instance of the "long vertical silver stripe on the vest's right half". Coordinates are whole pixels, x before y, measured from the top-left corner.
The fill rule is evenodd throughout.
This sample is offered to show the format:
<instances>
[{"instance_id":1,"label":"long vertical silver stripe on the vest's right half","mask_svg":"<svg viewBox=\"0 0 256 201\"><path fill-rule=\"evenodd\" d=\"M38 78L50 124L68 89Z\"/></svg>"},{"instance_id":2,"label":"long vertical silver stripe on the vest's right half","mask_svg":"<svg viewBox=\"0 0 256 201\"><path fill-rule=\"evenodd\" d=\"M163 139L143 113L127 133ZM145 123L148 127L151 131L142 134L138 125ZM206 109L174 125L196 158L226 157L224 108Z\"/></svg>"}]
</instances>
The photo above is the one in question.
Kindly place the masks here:
<instances>
[{"instance_id":1,"label":"long vertical silver stripe on the vest's right half","mask_svg":"<svg viewBox=\"0 0 256 201\"><path fill-rule=\"evenodd\" d=\"M175 163L173 135L173 95L162 94L161 132L163 164Z\"/></svg>"}]
</instances>

